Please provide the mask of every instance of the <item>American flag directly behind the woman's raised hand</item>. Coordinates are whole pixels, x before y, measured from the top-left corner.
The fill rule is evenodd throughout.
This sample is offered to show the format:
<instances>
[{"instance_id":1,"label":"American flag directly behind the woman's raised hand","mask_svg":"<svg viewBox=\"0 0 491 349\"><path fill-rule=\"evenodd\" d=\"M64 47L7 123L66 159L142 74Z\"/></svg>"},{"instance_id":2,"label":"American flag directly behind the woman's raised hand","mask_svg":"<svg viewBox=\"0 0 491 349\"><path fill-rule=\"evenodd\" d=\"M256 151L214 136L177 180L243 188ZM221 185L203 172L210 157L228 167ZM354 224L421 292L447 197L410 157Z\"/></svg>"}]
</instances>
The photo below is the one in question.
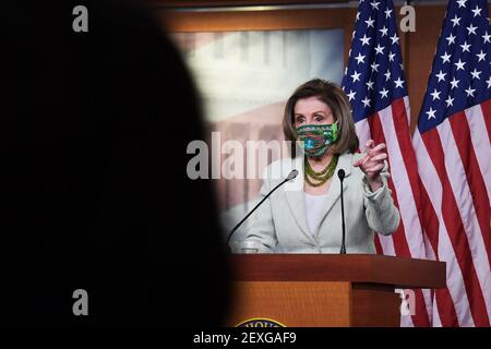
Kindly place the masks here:
<instances>
[{"instance_id":1,"label":"American flag directly behind the woman's raised hand","mask_svg":"<svg viewBox=\"0 0 491 349\"><path fill-rule=\"evenodd\" d=\"M392 0L360 1L343 88L351 103L361 146L370 139L387 145L388 185L402 222L392 237L375 238L376 250L386 255L426 258L420 184ZM416 290L416 314L402 316L402 325L430 326L430 312L431 292Z\"/></svg>"}]
</instances>

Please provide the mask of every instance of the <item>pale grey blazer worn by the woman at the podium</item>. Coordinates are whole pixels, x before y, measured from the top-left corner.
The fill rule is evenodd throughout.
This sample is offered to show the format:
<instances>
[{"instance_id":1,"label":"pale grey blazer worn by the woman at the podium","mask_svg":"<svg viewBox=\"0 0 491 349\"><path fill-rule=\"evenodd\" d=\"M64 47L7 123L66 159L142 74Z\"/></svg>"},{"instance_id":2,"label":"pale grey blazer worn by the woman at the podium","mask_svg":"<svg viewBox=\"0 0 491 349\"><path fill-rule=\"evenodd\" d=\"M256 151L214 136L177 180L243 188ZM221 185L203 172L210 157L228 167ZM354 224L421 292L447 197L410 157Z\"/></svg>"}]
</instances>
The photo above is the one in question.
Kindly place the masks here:
<instances>
[{"instance_id":1,"label":"pale grey blazer worn by the woman at the podium","mask_svg":"<svg viewBox=\"0 0 491 349\"><path fill-rule=\"evenodd\" d=\"M399 225L399 213L387 188L387 165L382 171L383 186L370 191L364 173L352 164L363 154L339 156L327 193L323 219L314 236L309 231L303 193L303 157L272 163L265 170L260 198L296 168L297 178L274 192L251 217L246 240L260 242L260 252L339 253L342 243L340 183L344 169L346 252L375 253L374 231L388 236ZM307 207L308 209L308 207Z\"/></svg>"}]
</instances>

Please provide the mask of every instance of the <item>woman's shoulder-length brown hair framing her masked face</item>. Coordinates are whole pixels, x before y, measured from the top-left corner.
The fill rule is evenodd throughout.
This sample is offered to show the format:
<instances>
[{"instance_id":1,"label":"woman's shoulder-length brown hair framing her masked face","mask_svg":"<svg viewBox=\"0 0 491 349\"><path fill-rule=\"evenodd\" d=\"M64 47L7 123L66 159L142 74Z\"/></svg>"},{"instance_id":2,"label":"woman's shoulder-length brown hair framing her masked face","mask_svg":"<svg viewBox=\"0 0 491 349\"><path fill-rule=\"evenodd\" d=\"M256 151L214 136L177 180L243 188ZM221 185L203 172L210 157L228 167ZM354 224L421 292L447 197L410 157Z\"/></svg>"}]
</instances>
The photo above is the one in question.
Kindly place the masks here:
<instances>
[{"instance_id":1,"label":"woman's shoulder-length brown hair framing her masked face","mask_svg":"<svg viewBox=\"0 0 491 349\"><path fill-rule=\"evenodd\" d=\"M330 106L335 120L338 121L338 139L331 146L330 152L333 154L343 154L346 151L355 153L359 147L359 140L348 97L336 84L325 80L314 79L297 87L290 98L288 98L285 107L283 132L285 133L285 140L294 142L291 156L295 156L295 141L298 139L295 128L295 105L297 100L308 97L318 97L319 100Z\"/></svg>"}]
</instances>

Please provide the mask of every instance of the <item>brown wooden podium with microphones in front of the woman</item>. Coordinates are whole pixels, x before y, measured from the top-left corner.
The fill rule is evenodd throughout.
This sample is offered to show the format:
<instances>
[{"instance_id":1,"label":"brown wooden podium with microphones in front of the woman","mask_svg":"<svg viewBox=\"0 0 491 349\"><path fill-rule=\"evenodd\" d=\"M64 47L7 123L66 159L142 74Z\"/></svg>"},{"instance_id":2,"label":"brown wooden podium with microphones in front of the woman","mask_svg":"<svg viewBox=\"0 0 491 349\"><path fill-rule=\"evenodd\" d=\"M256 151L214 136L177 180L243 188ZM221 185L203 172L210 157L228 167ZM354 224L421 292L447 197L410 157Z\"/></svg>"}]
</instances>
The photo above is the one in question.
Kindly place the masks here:
<instances>
[{"instance_id":1,"label":"brown wooden podium with microphones in front of the woman","mask_svg":"<svg viewBox=\"0 0 491 349\"><path fill-rule=\"evenodd\" d=\"M399 326L394 289L445 287L445 263L372 254L235 254L228 325Z\"/></svg>"}]
</instances>

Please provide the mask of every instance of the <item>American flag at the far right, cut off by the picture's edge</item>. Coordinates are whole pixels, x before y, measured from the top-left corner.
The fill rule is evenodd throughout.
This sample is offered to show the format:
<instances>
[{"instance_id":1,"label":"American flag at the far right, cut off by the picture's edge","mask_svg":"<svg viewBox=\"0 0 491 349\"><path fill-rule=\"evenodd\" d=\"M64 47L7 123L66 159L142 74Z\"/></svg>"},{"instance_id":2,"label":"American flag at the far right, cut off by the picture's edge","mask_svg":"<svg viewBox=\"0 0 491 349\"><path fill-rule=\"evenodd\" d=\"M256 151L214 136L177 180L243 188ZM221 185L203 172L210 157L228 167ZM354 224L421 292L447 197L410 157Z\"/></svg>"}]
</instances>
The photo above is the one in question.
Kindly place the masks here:
<instances>
[{"instance_id":1,"label":"American flag at the far right, cut off by the picture's edge","mask_svg":"<svg viewBox=\"0 0 491 349\"><path fill-rule=\"evenodd\" d=\"M486 0L451 0L414 135L429 257L446 262L433 325L491 318L491 31Z\"/></svg>"}]
</instances>

